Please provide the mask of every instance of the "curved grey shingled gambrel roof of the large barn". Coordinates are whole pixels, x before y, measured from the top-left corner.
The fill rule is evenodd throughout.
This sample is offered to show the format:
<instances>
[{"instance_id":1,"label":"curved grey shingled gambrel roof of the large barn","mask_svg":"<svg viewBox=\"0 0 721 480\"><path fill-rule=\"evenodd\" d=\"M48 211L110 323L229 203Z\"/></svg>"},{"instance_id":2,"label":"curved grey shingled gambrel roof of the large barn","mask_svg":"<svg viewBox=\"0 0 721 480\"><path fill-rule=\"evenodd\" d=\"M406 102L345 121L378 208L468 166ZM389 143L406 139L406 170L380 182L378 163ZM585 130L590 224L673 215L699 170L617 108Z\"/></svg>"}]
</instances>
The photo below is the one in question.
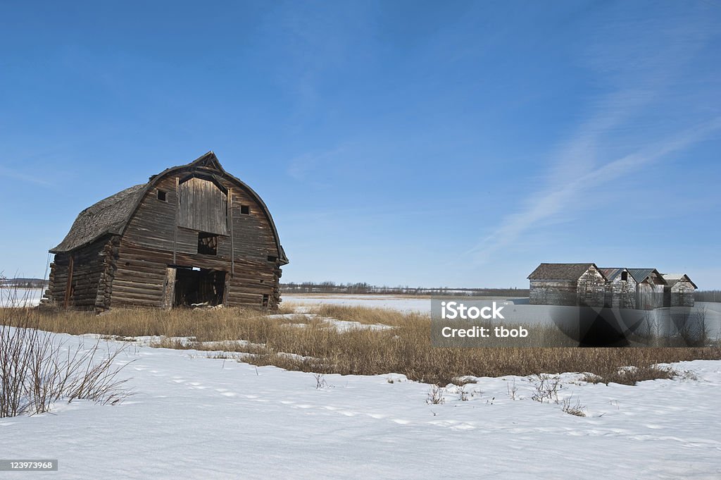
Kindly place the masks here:
<instances>
[{"instance_id":1,"label":"curved grey shingled gambrel roof of the large barn","mask_svg":"<svg viewBox=\"0 0 721 480\"><path fill-rule=\"evenodd\" d=\"M273 230L273 237L275 238L275 244L278 246L278 255L280 256L278 260L283 264L288 263L286 252L283 250L283 246L280 245L280 237L278 237L275 222L273 222L273 217L270 215L270 211L265 205L265 202L262 201L260 195L255 193L246 183L227 173L220 162L218 162L216 154L212 151L198 157L187 165L167 168L161 173L153 175L148 183L125 188L125 190L104 198L97 202L97 204L93 204L87 209L84 209L78 214L75 222L73 222L68 235L65 236L56 248L50 249L50 253L69 252L88 245L104 235L123 235L125 228L128 227L130 219L133 218L133 214L135 214L138 206L140 206L146 193L148 193L151 188L154 188L159 180L167 175L183 173L184 171L190 172L191 170L207 170L207 174L211 176L215 175L215 172L219 172L223 177L236 184L236 186L255 199L257 204L260 205L263 214L265 214L271 230Z\"/></svg>"}]
</instances>

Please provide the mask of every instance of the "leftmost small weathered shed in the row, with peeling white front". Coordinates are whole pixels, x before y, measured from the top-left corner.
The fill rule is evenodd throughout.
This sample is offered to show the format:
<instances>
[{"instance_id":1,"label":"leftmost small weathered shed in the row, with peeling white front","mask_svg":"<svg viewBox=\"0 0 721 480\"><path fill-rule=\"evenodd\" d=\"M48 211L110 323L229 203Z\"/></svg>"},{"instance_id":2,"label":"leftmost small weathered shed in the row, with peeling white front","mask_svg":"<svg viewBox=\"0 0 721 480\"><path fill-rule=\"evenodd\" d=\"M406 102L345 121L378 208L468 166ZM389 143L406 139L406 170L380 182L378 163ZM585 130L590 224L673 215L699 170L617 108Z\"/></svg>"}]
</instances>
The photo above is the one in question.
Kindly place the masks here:
<instances>
[{"instance_id":1,"label":"leftmost small weathered shed in the row, with peeling white front","mask_svg":"<svg viewBox=\"0 0 721 480\"><path fill-rule=\"evenodd\" d=\"M541 263L528 280L531 305L604 305L606 277L595 263Z\"/></svg>"}]
</instances>

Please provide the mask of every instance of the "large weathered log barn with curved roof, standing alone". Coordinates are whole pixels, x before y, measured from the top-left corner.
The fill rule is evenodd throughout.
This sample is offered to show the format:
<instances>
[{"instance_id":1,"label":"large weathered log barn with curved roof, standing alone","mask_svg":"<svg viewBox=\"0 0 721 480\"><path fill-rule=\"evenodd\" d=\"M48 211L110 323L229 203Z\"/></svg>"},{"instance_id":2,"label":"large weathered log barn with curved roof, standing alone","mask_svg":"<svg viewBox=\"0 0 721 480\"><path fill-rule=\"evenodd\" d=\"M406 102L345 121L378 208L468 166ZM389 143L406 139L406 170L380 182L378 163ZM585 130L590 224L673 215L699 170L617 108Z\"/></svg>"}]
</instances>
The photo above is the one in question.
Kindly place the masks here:
<instances>
[{"instance_id":1,"label":"large weathered log barn with curved roof, standing alone","mask_svg":"<svg viewBox=\"0 0 721 480\"><path fill-rule=\"evenodd\" d=\"M260 196L213 152L80 212L43 303L66 308L280 303L288 263Z\"/></svg>"}]
</instances>

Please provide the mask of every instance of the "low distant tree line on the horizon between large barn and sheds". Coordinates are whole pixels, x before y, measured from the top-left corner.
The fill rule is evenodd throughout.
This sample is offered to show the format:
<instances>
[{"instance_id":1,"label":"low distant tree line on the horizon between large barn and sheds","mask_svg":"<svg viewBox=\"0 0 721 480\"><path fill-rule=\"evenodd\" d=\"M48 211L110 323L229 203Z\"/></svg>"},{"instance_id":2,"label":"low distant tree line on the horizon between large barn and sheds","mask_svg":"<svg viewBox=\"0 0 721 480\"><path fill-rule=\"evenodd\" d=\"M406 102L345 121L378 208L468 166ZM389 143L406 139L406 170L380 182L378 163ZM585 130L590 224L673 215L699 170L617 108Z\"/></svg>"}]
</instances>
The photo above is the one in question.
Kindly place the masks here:
<instances>
[{"instance_id":1,"label":"low distant tree line on the horizon between large barn and sheds","mask_svg":"<svg viewBox=\"0 0 721 480\"><path fill-rule=\"evenodd\" d=\"M528 289L518 288L451 288L451 287L380 287L366 282L337 284L335 282L288 282L280 284L283 293L348 293L348 294L404 294L404 295L460 295L460 296L498 296L528 297Z\"/></svg>"}]
</instances>

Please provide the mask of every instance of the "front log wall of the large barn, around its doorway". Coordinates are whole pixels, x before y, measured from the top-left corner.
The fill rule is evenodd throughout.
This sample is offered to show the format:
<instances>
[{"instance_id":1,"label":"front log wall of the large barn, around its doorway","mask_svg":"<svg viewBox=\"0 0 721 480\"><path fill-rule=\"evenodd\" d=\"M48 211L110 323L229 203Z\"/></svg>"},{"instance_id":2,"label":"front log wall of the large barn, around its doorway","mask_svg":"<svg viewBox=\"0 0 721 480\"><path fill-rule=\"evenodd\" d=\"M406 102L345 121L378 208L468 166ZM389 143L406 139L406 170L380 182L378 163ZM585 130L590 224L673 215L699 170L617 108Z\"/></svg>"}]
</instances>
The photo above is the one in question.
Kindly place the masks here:
<instances>
[{"instance_id":1,"label":"front log wall of the large barn, around its doorway","mask_svg":"<svg viewBox=\"0 0 721 480\"><path fill-rule=\"evenodd\" d=\"M176 177L180 175L159 180L128 223L118 249L112 307L161 307L171 265L228 272L226 305L261 306L263 295L268 295L268 306L277 306L280 266L277 260L268 261L268 256L277 259L278 247L262 207L234 183L221 179L231 198L232 240L230 235L218 235L216 255L198 253L198 230L176 227ZM158 199L158 190L166 193L165 201ZM247 214L242 213L242 206L248 207Z\"/></svg>"}]
</instances>

